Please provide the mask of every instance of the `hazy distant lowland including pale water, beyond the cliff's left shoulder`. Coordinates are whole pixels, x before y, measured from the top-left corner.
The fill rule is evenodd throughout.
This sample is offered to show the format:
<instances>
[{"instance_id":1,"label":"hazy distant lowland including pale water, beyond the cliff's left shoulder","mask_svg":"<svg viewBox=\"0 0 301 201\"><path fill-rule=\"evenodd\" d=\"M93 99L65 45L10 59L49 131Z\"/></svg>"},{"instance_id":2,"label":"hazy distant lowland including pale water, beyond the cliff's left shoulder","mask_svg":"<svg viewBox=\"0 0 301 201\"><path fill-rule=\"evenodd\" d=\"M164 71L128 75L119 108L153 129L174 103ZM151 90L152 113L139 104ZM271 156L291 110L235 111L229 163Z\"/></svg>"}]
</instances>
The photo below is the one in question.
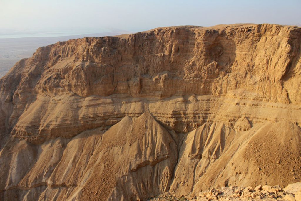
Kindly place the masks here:
<instances>
[{"instance_id":1,"label":"hazy distant lowland including pale water, beyond the cliff's left shoulder","mask_svg":"<svg viewBox=\"0 0 301 201\"><path fill-rule=\"evenodd\" d=\"M1 0L0 0L1 1ZM83 37L102 37L129 34L131 32L117 29L89 29L84 31L39 31L12 32L0 30L0 78L22 58L29 58L37 48Z\"/></svg>"}]
</instances>

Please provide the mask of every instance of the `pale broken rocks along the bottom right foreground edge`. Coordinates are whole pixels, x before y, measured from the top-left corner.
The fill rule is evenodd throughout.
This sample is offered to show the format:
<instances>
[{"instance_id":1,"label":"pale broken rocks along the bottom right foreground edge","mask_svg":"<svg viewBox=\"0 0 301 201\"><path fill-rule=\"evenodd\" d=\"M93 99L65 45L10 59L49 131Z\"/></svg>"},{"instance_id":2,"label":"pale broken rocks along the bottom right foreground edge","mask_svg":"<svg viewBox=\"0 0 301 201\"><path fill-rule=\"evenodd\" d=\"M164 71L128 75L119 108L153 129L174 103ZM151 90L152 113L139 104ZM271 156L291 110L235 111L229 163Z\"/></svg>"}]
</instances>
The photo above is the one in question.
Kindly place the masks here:
<instances>
[{"instance_id":1,"label":"pale broken rocks along the bottom right foreground edge","mask_svg":"<svg viewBox=\"0 0 301 201\"><path fill-rule=\"evenodd\" d=\"M222 187L212 188L207 192L201 192L194 198L182 198L178 199L174 196L163 196L160 198L153 198L150 201L159 200L189 200L189 201L209 201L209 200L221 200L221 201L238 201L238 200L288 200L288 201L300 201L301 200L301 183L292 183L282 189L279 185L277 186L256 186L252 187Z\"/></svg>"}]
</instances>

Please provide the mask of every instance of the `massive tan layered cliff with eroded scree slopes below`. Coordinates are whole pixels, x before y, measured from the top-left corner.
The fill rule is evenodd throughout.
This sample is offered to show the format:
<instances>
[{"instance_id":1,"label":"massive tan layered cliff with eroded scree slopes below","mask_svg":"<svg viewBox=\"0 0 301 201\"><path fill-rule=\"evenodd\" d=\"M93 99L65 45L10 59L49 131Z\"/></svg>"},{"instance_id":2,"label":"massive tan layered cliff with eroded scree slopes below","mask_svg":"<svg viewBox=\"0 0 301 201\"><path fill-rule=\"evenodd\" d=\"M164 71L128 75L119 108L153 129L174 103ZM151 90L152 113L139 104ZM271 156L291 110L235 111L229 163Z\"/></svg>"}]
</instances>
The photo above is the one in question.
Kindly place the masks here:
<instances>
[{"instance_id":1,"label":"massive tan layered cliff with eroded scree slopes below","mask_svg":"<svg viewBox=\"0 0 301 201\"><path fill-rule=\"evenodd\" d=\"M0 79L0 200L300 181L301 28L164 27L41 47Z\"/></svg>"}]
</instances>

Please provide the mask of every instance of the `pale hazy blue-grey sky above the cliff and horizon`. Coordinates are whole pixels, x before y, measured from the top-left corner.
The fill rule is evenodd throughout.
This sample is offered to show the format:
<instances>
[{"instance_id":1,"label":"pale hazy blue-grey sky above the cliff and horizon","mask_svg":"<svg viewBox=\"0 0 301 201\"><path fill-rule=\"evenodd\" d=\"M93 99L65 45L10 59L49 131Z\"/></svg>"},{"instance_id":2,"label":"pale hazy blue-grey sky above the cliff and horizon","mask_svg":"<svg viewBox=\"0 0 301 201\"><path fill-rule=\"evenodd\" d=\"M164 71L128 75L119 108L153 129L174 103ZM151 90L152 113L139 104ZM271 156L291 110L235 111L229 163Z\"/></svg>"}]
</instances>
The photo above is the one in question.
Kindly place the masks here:
<instances>
[{"instance_id":1,"label":"pale hazy blue-grey sky above the cliff and horizon","mask_svg":"<svg viewBox=\"0 0 301 201\"><path fill-rule=\"evenodd\" d=\"M301 0L0 0L0 29L149 30L172 25L301 23Z\"/></svg>"}]
</instances>

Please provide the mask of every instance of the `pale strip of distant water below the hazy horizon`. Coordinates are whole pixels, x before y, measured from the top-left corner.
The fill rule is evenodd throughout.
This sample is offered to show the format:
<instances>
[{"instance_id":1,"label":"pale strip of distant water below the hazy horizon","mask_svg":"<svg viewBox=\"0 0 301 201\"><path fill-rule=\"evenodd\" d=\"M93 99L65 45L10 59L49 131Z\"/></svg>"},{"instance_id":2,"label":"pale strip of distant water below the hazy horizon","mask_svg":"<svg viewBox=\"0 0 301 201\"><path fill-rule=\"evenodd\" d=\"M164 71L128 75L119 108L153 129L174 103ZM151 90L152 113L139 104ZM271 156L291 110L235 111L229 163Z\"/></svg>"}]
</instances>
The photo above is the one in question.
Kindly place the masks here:
<instances>
[{"instance_id":1,"label":"pale strip of distant water below the hazy horizon","mask_svg":"<svg viewBox=\"0 0 301 201\"><path fill-rule=\"evenodd\" d=\"M94 34L112 31L106 28L86 29L86 30L47 30L47 31L15 31L1 30L0 38L35 38L35 37L60 37L83 34Z\"/></svg>"}]
</instances>

